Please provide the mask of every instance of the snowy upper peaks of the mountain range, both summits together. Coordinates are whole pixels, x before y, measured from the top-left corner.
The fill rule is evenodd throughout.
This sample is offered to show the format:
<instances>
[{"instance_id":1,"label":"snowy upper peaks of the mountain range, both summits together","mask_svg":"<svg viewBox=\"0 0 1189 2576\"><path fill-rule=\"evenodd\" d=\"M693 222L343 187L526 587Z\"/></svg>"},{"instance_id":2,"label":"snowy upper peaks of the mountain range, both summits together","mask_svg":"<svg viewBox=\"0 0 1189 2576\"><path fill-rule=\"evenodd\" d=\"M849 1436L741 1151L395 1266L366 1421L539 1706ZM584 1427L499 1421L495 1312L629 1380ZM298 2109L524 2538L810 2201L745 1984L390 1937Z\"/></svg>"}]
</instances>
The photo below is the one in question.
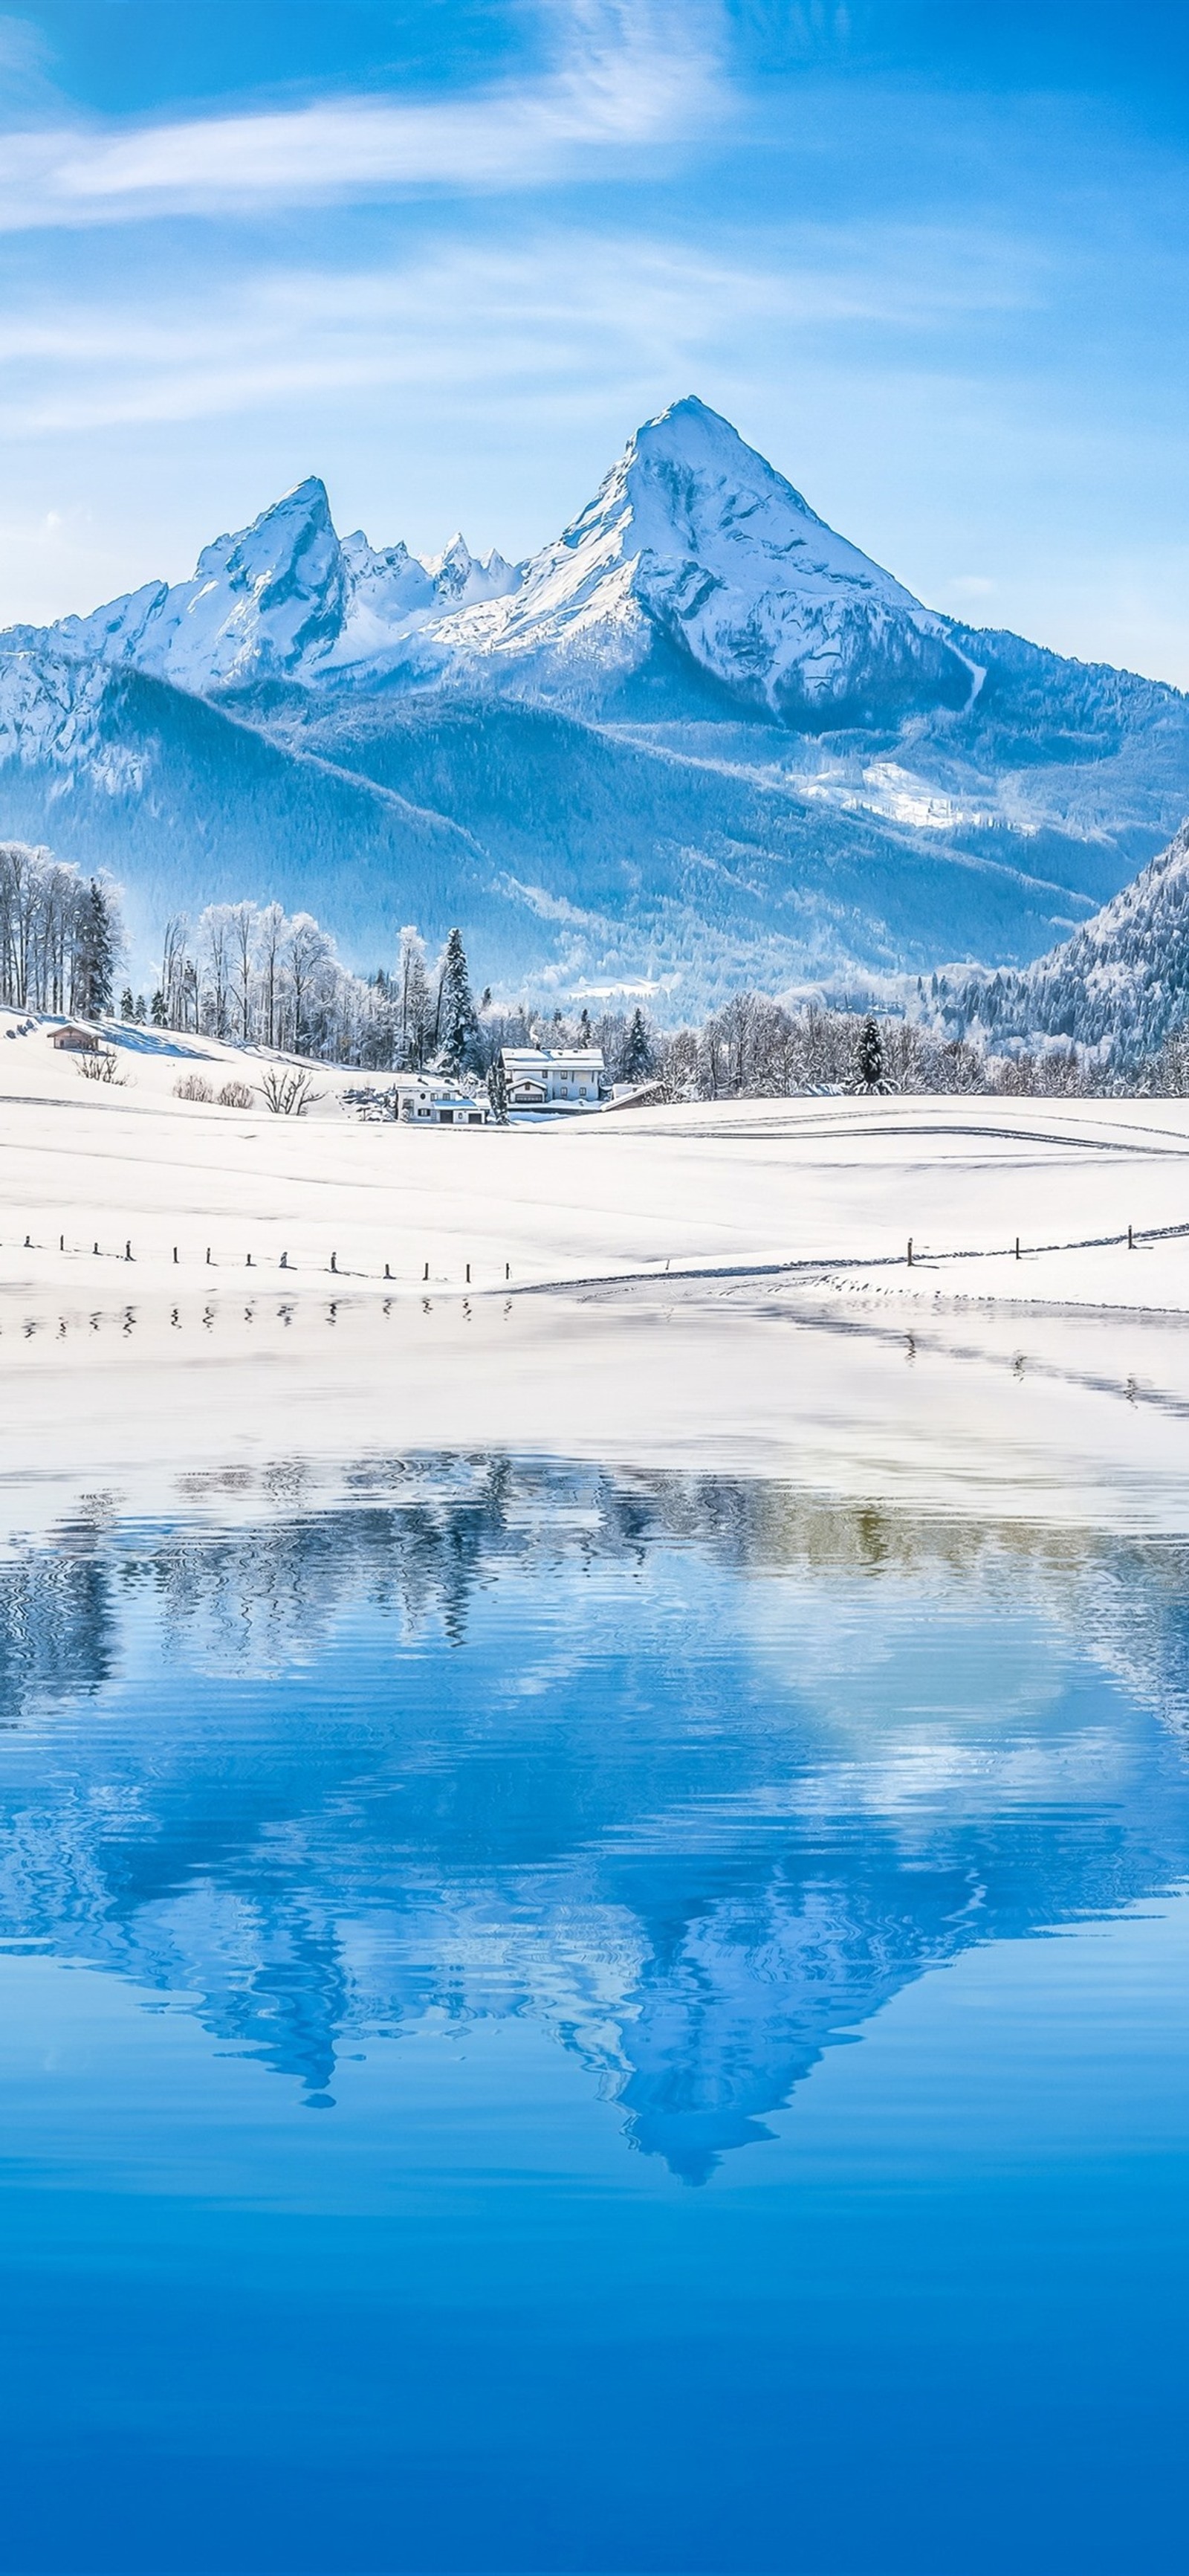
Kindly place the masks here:
<instances>
[{"instance_id":1,"label":"snowy upper peaks of the mountain range, both summits together","mask_svg":"<svg viewBox=\"0 0 1189 2576\"><path fill-rule=\"evenodd\" d=\"M299 484L198 556L46 631L208 693L391 680L515 688L582 711L710 683L741 711L821 729L968 706L983 670L901 582L808 507L705 402L649 420L579 518L522 569L453 536L438 556L340 541Z\"/></svg>"}]
</instances>

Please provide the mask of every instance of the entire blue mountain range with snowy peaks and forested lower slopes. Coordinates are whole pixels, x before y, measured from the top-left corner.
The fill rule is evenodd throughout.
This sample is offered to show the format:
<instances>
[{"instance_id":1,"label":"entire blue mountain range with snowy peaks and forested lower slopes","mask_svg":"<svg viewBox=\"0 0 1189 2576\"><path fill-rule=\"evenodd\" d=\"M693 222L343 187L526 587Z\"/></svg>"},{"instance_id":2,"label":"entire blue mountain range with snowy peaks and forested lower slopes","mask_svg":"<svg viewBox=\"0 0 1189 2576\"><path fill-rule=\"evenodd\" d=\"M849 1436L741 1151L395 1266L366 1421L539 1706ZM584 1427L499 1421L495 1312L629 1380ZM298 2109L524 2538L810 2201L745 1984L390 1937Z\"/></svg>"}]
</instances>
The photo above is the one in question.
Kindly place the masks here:
<instances>
[{"instance_id":1,"label":"entire blue mountain range with snowy peaks and forested lower slopes","mask_svg":"<svg viewBox=\"0 0 1189 2576\"><path fill-rule=\"evenodd\" d=\"M484 976L690 1015L1027 966L1186 809L1179 690L932 613L695 399L522 567L340 541L309 479L0 639L0 832L113 868L144 943L232 891L360 963L458 917Z\"/></svg>"}]
</instances>

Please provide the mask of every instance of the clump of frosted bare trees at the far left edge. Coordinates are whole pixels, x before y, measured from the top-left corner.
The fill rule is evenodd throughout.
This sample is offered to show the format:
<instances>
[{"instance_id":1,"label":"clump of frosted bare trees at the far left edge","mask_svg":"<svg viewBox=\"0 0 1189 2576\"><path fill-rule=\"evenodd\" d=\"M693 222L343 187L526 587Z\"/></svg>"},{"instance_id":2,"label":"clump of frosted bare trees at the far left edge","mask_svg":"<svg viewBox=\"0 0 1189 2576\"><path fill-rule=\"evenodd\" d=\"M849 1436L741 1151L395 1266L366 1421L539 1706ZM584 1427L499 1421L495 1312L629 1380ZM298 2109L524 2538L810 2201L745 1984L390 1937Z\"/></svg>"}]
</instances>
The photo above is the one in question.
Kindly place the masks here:
<instances>
[{"instance_id":1,"label":"clump of frosted bare trees at the far left edge","mask_svg":"<svg viewBox=\"0 0 1189 2576\"><path fill-rule=\"evenodd\" d=\"M113 889L98 876L33 850L0 842L0 1002L10 1010L111 1010L124 953Z\"/></svg>"}]
</instances>

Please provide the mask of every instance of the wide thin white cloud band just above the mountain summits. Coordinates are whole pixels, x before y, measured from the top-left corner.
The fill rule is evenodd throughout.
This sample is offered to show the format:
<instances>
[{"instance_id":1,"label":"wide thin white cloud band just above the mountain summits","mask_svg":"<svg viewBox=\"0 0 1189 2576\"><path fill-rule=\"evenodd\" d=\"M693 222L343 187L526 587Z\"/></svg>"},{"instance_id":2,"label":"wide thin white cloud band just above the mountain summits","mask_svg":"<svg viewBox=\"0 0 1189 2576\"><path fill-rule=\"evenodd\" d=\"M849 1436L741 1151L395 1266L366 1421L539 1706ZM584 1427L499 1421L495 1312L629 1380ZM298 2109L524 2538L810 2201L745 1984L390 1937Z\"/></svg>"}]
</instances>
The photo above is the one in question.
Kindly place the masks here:
<instances>
[{"instance_id":1,"label":"wide thin white cloud band just above the mountain summits","mask_svg":"<svg viewBox=\"0 0 1189 2576\"><path fill-rule=\"evenodd\" d=\"M62 299L0 319L0 435L229 417L347 389L533 389L597 374L674 386L708 358L744 361L754 332L795 355L811 335L937 337L957 312L1040 294L1014 245L921 227L813 229L767 258L623 232L551 227L401 263L260 270L237 286L106 307Z\"/></svg>"}]
</instances>

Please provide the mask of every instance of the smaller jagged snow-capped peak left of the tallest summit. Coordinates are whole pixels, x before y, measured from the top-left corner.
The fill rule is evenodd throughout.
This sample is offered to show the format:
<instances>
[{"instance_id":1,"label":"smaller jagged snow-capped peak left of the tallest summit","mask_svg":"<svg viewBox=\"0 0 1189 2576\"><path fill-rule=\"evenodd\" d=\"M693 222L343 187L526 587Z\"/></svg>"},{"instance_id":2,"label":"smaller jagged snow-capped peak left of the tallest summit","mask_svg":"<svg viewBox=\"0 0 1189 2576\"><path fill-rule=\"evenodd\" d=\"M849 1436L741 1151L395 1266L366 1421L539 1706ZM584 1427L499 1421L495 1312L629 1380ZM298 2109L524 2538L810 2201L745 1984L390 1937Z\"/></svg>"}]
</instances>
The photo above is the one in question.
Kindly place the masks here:
<instances>
[{"instance_id":1,"label":"smaller jagged snow-capped peak left of the tallest summit","mask_svg":"<svg viewBox=\"0 0 1189 2576\"><path fill-rule=\"evenodd\" d=\"M461 533L425 562L407 546L340 538L327 487L311 474L237 536L203 546L190 582L147 582L44 636L59 654L131 662L175 688L304 680L391 657L443 611L492 600L517 574L499 554L479 562Z\"/></svg>"}]
</instances>

